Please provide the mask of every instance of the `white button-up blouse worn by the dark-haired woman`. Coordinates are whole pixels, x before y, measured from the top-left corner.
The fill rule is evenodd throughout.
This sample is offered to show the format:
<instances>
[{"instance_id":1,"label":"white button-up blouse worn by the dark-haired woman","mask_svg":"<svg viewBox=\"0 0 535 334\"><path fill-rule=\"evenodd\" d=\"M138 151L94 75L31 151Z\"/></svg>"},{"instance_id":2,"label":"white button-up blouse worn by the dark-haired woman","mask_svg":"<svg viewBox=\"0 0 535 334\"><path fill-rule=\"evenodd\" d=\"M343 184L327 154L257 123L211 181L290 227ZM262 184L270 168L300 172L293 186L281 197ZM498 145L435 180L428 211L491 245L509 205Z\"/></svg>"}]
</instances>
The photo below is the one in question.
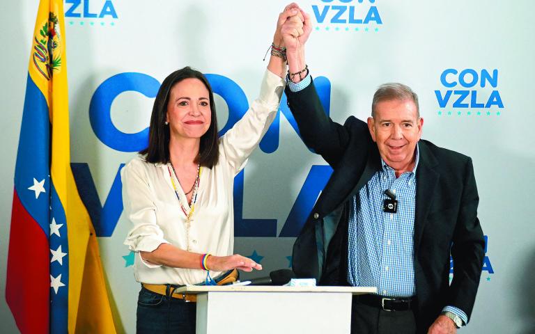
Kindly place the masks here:
<instances>
[{"instance_id":1,"label":"white button-up blouse worn by the dark-haired woman","mask_svg":"<svg viewBox=\"0 0 535 334\"><path fill-rule=\"evenodd\" d=\"M194 214L189 223L173 190L167 164L150 164L137 157L121 170L124 212L134 225L125 245L138 253L134 262L138 282L190 285L206 279L206 271L201 269L171 268L141 259L140 250L151 252L162 243L194 253L233 254L234 177L245 167L249 154L277 115L285 85L284 79L265 71L258 99L220 138L219 161L211 169L202 169ZM180 201L189 213L184 191L177 180L175 184ZM219 274L213 272L210 276L214 278Z\"/></svg>"}]
</instances>

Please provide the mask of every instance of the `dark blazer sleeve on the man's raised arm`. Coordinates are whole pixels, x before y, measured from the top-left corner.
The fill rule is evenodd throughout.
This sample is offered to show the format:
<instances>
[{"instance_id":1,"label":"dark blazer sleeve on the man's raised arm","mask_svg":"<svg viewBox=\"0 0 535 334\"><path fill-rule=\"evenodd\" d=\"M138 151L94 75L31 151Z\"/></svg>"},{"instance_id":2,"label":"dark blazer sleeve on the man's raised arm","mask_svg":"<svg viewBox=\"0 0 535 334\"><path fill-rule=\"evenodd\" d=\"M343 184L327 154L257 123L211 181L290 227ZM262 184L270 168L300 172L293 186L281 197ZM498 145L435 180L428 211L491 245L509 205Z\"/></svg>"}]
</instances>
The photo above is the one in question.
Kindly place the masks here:
<instances>
[{"instance_id":1,"label":"dark blazer sleeve on the man's raised arm","mask_svg":"<svg viewBox=\"0 0 535 334\"><path fill-rule=\"evenodd\" d=\"M298 92L286 87L286 97L304 144L336 166L349 144L348 129L325 114L313 81Z\"/></svg>"}]
</instances>

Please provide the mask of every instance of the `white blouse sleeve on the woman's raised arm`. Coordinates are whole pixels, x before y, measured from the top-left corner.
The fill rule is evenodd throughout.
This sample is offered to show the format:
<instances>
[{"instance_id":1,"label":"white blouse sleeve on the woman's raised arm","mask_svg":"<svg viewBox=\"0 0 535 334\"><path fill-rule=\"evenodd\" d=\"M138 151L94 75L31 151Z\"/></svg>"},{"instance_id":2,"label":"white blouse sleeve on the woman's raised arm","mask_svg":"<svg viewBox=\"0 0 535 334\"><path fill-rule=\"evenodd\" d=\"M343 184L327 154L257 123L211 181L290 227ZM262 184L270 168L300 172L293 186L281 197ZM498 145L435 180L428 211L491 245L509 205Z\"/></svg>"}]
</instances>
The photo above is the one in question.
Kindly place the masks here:
<instances>
[{"instance_id":1,"label":"white blouse sleeve on the woman's raised arm","mask_svg":"<svg viewBox=\"0 0 535 334\"><path fill-rule=\"evenodd\" d=\"M277 116L285 86L284 79L265 70L260 96L254 100L242 119L222 137L223 153L235 174L240 173L247 158Z\"/></svg>"}]
</instances>

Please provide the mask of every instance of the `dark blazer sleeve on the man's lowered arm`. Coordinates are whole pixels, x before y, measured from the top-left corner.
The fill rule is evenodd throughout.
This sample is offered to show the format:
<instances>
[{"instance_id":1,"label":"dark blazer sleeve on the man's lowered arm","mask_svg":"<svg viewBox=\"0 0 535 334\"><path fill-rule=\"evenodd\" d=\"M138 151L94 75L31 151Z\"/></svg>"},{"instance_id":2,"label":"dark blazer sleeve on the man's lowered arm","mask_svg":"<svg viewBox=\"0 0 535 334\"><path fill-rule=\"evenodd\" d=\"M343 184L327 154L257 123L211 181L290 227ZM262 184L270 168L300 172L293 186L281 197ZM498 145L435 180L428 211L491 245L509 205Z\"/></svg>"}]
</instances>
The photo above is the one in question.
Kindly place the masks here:
<instances>
[{"instance_id":1,"label":"dark blazer sleeve on the man's lowered arm","mask_svg":"<svg viewBox=\"0 0 535 334\"><path fill-rule=\"evenodd\" d=\"M460 199L460 210L453 232L453 245L451 247L453 280L451 280L447 303L447 305L453 305L463 310L469 321L483 268L483 257L485 256L483 231L477 218L478 204L479 195L474 177L474 167L472 159L469 158L465 164L465 180Z\"/></svg>"}]
</instances>

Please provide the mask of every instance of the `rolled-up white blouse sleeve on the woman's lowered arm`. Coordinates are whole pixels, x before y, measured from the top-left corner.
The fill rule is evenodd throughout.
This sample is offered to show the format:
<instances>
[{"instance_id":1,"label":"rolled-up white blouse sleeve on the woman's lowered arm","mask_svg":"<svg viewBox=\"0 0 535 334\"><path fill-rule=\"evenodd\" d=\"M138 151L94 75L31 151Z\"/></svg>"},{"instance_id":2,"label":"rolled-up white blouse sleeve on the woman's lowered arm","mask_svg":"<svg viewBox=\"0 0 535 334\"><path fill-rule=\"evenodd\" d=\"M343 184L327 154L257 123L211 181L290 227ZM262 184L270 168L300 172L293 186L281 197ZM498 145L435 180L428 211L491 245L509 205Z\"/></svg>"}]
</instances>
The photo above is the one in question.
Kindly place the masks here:
<instances>
[{"instance_id":1,"label":"rolled-up white blouse sleeve on the woman's lowered arm","mask_svg":"<svg viewBox=\"0 0 535 334\"><path fill-rule=\"evenodd\" d=\"M124 244L136 253L140 250L152 252L160 244L169 244L169 241L164 239L164 232L156 223L153 191L150 190L147 171L143 164L143 161L134 159L121 170L124 212L134 224ZM160 267L142 262L148 267Z\"/></svg>"}]
</instances>

